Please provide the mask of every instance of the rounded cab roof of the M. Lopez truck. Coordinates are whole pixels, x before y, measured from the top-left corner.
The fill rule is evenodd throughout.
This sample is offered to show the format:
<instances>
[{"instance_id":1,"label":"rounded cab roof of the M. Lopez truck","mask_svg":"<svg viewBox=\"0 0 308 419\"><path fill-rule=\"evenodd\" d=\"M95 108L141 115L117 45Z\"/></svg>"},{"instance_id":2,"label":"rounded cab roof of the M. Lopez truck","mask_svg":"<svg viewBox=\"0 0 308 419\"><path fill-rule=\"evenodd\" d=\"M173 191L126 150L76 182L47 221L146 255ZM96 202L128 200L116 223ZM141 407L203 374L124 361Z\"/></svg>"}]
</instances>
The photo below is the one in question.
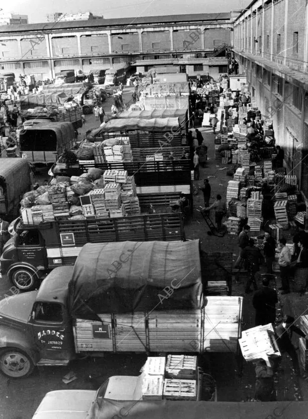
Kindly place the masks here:
<instances>
[{"instance_id":1,"label":"rounded cab roof of the M. Lopez truck","mask_svg":"<svg viewBox=\"0 0 308 419\"><path fill-rule=\"evenodd\" d=\"M59 266L53 269L43 280L37 293L36 301L58 302L67 304L68 285L74 266Z\"/></svg>"}]
</instances>

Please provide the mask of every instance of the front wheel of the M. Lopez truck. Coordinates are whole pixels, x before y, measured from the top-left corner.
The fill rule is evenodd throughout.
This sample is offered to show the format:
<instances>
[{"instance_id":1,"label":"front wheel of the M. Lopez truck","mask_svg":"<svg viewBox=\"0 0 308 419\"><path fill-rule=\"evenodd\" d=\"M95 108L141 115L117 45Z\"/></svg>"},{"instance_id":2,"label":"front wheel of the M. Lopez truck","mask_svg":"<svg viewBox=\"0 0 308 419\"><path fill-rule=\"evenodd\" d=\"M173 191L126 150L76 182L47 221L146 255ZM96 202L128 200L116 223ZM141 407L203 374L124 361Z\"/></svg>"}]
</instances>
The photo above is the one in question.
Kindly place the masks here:
<instances>
[{"instance_id":1,"label":"front wheel of the M. Lopez truck","mask_svg":"<svg viewBox=\"0 0 308 419\"><path fill-rule=\"evenodd\" d=\"M32 360L20 349L7 348L0 352L0 370L7 377L27 377L33 368Z\"/></svg>"}]
</instances>

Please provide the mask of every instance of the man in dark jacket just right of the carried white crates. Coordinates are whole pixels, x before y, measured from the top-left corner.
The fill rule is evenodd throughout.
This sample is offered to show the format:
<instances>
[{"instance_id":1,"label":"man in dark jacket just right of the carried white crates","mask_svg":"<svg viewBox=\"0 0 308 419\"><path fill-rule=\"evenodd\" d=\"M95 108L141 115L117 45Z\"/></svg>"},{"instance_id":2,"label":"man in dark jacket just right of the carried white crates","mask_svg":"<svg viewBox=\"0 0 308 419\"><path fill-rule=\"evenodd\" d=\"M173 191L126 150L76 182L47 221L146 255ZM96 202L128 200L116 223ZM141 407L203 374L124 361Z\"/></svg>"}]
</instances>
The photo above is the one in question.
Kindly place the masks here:
<instances>
[{"instance_id":1,"label":"man in dark jacket just right of the carried white crates","mask_svg":"<svg viewBox=\"0 0 308 419\"><path fill-rule=\"evenodd\" d=\"M292 334L296 334L305 337L308 340L308 336L305 335L300 328L294 325L295 319L292 316L284 316L282 323L275 328L275 333L277 336L277 344L281 353L288 353L293 362L293 368L297 375L300 375L300 365L299 359L296 353L296 349L292 343ZM279 360L278 360L279 361Z\"/></svg>"}]
</instances>

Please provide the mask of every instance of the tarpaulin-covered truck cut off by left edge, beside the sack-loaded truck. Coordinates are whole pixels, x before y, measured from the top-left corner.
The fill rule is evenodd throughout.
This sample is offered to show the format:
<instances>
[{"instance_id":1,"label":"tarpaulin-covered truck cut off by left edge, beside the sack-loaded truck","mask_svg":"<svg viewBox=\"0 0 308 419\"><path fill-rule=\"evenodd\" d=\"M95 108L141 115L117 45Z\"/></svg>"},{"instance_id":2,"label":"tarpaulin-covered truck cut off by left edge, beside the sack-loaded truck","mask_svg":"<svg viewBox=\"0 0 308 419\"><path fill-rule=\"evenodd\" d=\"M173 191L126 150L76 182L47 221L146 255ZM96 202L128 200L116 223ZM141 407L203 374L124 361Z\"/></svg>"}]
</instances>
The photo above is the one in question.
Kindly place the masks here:
<instances>
[{"instance_id":1,"label":"tarpaulin-covered truck cut off by left edge, beside the sack-loaded truck","mask_svg":"<svg viewBox=\"0 0 308 419\"><path fill-rule=\"evenodd\" d=\"M26 160L0 159L0 217L16 218L22 195L30 188L30 166Z\"/></svg>"}]
</instances>

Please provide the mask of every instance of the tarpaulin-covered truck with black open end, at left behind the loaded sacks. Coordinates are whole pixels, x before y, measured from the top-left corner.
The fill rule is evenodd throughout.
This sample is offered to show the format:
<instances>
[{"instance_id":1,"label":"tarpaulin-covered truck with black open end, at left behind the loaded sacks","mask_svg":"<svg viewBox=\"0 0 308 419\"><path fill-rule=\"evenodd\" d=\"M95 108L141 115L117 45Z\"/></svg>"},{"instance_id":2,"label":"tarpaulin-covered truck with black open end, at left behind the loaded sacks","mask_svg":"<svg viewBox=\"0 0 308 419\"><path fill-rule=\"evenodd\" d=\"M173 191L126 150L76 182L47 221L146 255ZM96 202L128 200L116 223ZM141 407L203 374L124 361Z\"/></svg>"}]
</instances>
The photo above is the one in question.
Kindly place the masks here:
<instances>
[{"instance_id":1,"label":"tarpaulin-covered truck with black open end, at left behind the loaded sacks","mask_svg":"<svg viewBox=\"0 0 308 419\"><path fill-rule=\"evenodd\" d=\"M71 122L48 122L23 129L19 135L20 157L27 162L52 165L65 149L76 144Z\"/></svg>"}]
</instances>

